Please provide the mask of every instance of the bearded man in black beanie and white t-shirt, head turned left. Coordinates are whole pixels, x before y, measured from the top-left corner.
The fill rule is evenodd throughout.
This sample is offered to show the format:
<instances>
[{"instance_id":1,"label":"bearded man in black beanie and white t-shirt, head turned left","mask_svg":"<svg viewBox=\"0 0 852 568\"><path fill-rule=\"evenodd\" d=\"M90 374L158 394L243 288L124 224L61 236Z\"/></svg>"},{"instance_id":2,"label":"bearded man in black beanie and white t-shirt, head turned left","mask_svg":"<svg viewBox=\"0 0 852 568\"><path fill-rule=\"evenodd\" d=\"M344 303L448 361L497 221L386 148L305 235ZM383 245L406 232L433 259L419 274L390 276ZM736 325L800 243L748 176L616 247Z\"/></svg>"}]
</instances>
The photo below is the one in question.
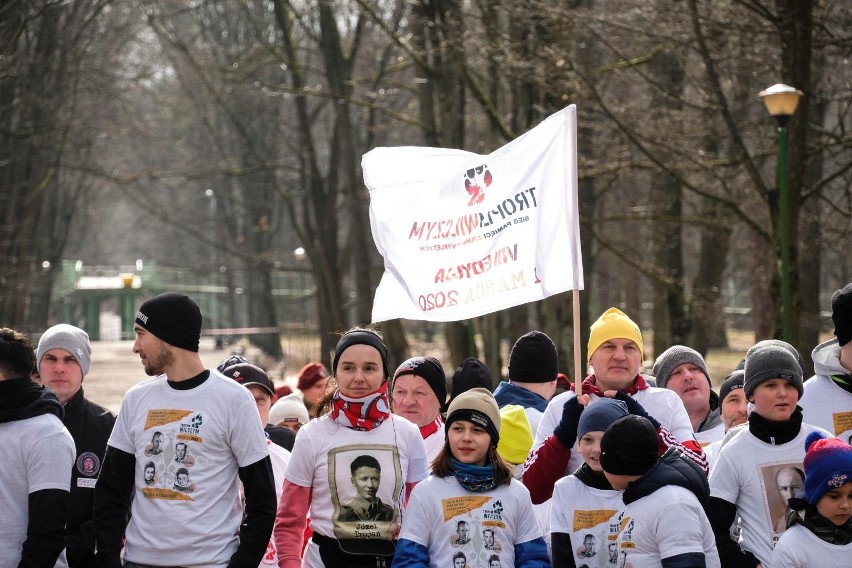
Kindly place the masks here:
<instances>
[{"instance_id":1,"label":"bearded man in black beanie and white t-shirt, head turned left","mask_svg":"<svg viewBox=\"0 0 852 568\"><path fill-rule=\"evenodd\" d=\"M257 566L275 520L275 484L254 399L204 367L201 311L186 295L144 302L134 332L133 351L154 378L127 392L107 444L95 488L98 566L122 566L123 540L130 568ZM146 455L152 431L167 449ZM168 448L190 441L195 462L176 473L181 483L191 477L191 495L184 485L147 485L143 467L153 462L168 480Z\"/></svg>"}]
</instances>

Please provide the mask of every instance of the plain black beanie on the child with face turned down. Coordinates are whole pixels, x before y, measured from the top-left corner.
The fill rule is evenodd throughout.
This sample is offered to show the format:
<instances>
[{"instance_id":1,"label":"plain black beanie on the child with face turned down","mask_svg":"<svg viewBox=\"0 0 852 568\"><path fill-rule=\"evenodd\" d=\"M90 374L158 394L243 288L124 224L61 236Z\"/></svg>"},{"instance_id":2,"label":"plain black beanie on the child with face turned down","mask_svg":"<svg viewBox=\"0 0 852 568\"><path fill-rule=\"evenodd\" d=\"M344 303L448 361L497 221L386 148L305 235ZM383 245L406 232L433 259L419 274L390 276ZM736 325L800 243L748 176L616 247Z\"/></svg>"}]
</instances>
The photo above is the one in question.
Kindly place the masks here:
<instances>
[{"instance_id":1,"label":"plain black beanie on the child with face turned down","mask_svg":"<svg viewBox=\"0 0 852 568\"><path fill-rule=\"evenodd\" d=\"M601 438L601 467L607 473L645 475L657 459L657 431L643 416L628 414L619 418Z\"/></svg>"}]
</instances>

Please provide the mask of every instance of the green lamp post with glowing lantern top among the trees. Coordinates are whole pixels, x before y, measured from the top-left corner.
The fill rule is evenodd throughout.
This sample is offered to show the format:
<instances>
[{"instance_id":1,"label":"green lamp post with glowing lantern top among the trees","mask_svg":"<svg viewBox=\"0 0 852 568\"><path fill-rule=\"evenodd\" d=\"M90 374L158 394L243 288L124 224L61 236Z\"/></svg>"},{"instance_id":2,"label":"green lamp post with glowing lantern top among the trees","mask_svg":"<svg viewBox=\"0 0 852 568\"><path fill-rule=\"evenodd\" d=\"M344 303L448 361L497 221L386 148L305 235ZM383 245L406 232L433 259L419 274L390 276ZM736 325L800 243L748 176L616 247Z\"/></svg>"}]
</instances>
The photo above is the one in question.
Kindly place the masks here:
<instances>
[{"instance_id":1,"label":"green lamp post with glowing lantern top among the trees","mask_svg":"<svg viewBox=\"0 0 852 568\"><path fill-rule=\"evenodd\" d=\"M787 125L796 112L802 91L790 85L772 85L759 93L778 123L778 232L781 237L781 308L784 341L793 341L793 302L790 293L790 212L787 196Z\"/></svg>"}]
</instances>

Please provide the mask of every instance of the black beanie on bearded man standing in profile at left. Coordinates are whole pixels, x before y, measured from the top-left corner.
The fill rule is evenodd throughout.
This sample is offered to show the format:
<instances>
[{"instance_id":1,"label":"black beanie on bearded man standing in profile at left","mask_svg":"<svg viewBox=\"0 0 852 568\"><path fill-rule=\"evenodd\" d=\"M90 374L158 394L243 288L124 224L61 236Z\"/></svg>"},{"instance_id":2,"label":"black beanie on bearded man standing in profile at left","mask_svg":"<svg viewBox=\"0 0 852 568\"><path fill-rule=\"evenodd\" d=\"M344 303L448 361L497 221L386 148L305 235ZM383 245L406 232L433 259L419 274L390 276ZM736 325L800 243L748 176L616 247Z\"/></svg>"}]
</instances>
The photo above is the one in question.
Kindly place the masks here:
<instances>
[{"instance_id":1,"label":"black beanie on bearded man standing in profile at left","mask_svg":"<svg viewBox=\"0 0 852 568\"><path fill-rule=\"evenodd\" d=\"M186 294L166 292L146 300L136 312L136 323L169 345L198 353L201 310Z\"/></svg>"}]
</instances>

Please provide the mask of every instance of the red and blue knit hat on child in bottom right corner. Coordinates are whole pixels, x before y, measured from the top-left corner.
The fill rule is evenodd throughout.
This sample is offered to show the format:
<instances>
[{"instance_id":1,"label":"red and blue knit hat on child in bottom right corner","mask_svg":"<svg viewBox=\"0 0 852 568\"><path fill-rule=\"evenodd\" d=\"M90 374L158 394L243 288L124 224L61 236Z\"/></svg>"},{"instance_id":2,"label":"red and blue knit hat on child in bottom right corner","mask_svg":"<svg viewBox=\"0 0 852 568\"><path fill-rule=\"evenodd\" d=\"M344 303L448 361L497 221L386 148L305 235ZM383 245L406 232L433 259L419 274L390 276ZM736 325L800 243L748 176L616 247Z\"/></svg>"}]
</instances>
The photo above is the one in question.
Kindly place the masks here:
<instances>
[{"instance_id":1,"label":"red and blue knit hat on child in bottom right corner","mask_svg":"<svg viewBox=\"0 0 852 568\"><path fill-rule=\"evenodd\" d=\"M852 446L814 430L805 439L805 495L816 505L823 495L852 483Z\"/></svg>"}]
</instances>

